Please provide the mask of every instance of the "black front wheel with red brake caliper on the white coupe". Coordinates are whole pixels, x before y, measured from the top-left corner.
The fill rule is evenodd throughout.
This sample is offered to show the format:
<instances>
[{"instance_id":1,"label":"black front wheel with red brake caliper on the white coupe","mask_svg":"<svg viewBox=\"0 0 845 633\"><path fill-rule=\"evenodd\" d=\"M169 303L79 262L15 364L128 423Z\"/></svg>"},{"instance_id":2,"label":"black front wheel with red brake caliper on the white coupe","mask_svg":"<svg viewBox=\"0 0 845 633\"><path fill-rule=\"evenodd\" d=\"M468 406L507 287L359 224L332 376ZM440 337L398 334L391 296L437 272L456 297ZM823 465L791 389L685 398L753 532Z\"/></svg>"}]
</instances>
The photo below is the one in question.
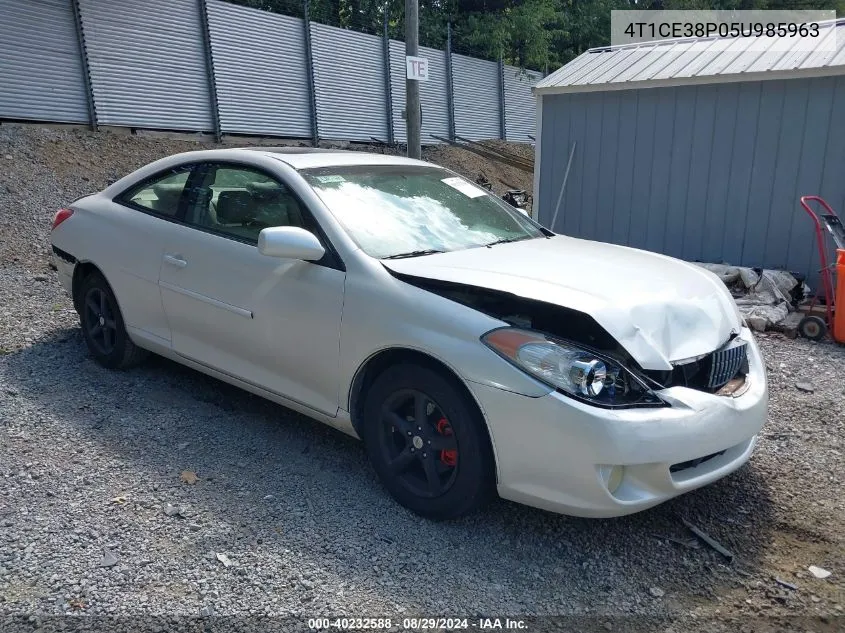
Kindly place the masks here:
<instances>
[{"instance_id":1,"label":"black front wheel with red brake caliper on the white coupe","mask_svg":"<svg viewBox=\"0 0 845 633\"><path fill-rule=\"evenodd\" d=\"M452 519L484 505L494 464L484 420L460 386L431 369L385 370L364 403L363 440L384 487L430 519Z\"/></svg>"}]
</instances>

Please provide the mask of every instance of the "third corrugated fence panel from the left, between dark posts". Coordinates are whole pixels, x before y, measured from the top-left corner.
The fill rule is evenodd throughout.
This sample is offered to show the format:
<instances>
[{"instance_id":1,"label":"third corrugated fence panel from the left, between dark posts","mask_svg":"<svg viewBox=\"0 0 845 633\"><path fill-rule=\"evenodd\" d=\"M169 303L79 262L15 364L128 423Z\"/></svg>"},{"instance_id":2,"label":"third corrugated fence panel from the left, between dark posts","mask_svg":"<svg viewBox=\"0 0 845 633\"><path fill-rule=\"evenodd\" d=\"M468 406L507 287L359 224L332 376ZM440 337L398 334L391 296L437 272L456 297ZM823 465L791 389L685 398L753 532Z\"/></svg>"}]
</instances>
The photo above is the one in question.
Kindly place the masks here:
<instances>
[{"instance_id":1,"label":"third corrugated fence panel from the left, between dark posts","mask_svg":"<svg viewBox=\"0 0 845 633\"><path fill-rule=\"evenodd\" d=\"M223 132L309 137L303 21L208 0Z\"/></svg>"}]
</instances>

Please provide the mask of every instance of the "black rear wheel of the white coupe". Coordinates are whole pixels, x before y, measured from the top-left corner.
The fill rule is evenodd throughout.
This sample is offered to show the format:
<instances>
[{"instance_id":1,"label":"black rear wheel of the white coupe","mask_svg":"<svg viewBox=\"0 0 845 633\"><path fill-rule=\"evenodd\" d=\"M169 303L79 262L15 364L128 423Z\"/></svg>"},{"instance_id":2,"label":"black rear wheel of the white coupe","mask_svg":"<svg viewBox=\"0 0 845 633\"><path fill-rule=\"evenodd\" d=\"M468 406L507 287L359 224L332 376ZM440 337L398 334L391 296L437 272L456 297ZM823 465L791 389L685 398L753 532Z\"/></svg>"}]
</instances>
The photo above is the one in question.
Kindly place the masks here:
<instances>
[{"instance_id":1,"label":"black rear wheel of the white coupe","mask_svg":"<svg viewBox=\"0 0 845 633\"><path fill-rule=\"evenodd\" d=\"M128 369L149 355L130 340L117 299L100 273L93 272L83 280L78 305L82 336L91 356L100 365Z\"/></svg>"}]
</instances>

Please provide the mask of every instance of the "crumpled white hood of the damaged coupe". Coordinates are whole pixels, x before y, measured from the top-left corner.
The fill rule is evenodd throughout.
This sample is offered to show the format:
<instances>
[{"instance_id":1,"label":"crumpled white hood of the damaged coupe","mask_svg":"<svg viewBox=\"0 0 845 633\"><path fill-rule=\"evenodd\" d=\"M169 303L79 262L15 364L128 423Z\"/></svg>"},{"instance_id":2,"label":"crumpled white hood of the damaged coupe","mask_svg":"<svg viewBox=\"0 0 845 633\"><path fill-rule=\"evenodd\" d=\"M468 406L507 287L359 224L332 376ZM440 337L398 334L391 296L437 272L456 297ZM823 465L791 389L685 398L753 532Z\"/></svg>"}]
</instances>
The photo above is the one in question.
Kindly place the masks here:
<instances>
[{"instance_id":1,"label":"crumpled white hood of the damaged coupe","mask_svg":"<svg viewBox=\"0 0 845 633\"><path fill-rule=\"evenodd\" d=\"M671 257L558 235L382 260L400 274L545 301L593 317L644 369L708 354L742 327L713 273Z\"/></svg>"}]
</instances>

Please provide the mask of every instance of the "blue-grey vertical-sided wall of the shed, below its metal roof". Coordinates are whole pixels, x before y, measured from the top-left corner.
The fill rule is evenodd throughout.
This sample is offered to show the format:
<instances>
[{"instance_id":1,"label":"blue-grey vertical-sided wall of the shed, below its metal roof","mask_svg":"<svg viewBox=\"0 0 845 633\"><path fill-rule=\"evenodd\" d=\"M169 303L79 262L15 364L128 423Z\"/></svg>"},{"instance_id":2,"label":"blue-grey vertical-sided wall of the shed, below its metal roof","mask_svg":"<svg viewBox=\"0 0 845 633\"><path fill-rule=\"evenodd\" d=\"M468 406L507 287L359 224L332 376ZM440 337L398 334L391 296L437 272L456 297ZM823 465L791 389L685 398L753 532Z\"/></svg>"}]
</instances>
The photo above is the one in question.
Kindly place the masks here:
<instances>
[{"instance_id":1,"label":"blue-grey vertical-sided wall of the shed, below its metal roof","mask_svg":"<svg viewBox=\"0 0 845 633\"><path fill-rule=\"evenodd\" d=\"M845 211L845 77L543 97L538 202L556 230L817 278L798 204Z\"/></svg>"}]
</instances>

